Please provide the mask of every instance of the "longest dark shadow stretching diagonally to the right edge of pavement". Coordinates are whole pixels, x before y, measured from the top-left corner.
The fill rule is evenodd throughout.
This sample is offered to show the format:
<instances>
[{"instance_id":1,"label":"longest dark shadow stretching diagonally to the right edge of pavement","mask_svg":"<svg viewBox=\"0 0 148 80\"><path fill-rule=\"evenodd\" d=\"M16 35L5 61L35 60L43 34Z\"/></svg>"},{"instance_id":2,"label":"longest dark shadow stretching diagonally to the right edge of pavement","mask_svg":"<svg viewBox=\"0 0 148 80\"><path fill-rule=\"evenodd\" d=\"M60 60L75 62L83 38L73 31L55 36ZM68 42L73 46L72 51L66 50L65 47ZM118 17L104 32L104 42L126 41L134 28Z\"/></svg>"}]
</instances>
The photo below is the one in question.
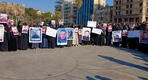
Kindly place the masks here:
<instances>
[{"instance_id":1,"label":"longest dark shadow stretching diagonally to the right edge of pavement","mask_svg":"<svg viewBox=\"0 0 148 80\"><path fill-rule=\"evenodd\" d=\"M98 55L98 56L101 57L101 58L107 59L109 61L116 62L116 63L121 64L121 65L126 65L126 66L137 68L137 69L140 69L140 70L143 70L143 71L148 71L148 67L143 67L143 66L140 66L140 65L137 65L137 64L125 62L125 61L115 59L115 58L112 58L112 57L109 57L109 56L102 56L102 55Z\"/></svg>"}]
</instances>

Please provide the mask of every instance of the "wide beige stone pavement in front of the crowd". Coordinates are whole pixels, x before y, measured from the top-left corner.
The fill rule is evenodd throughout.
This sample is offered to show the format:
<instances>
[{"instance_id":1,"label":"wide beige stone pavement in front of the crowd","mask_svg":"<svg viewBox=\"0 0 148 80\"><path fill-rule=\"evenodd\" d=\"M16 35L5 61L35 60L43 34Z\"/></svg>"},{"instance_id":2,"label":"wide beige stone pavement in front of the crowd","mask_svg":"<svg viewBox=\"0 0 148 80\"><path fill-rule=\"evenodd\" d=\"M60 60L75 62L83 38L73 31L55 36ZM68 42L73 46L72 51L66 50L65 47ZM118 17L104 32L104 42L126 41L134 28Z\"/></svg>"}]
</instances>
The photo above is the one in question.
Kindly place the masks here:
<instances>
[{"instance_id":1,"label":"wide beige stone pavement in front of the crowd","mask_svg":"<svg viewBox=\"0 0 148 80\"><path fill-rule=\"evenodd\" d=\"M148 56L107 46L0 52L0 80L148 80Z\"/></svg>"}]
</instances>

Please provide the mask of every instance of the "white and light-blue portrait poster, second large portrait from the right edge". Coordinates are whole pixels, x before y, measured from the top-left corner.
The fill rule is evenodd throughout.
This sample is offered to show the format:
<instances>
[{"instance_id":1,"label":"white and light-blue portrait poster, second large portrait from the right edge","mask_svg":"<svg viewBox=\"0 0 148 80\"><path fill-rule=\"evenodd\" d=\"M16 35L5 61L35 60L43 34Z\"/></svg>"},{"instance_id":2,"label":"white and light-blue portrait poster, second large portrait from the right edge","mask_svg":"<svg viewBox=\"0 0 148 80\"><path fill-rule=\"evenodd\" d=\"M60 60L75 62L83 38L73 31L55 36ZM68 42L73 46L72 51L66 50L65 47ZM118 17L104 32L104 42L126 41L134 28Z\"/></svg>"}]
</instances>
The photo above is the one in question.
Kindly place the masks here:
<instances>
[{"instance_id":1,"label":"white and light-blue portrait poster, second large portrait from the right edge","mask_svg":"<svg viewBox=\"0 0 148 80\"><path fill-rule=\"evenodd\" d=\"M113 31L112 32L113 42L121 42L122 41L121 34L122 34L121 31Z\"/></svg>"}]
</instances>

